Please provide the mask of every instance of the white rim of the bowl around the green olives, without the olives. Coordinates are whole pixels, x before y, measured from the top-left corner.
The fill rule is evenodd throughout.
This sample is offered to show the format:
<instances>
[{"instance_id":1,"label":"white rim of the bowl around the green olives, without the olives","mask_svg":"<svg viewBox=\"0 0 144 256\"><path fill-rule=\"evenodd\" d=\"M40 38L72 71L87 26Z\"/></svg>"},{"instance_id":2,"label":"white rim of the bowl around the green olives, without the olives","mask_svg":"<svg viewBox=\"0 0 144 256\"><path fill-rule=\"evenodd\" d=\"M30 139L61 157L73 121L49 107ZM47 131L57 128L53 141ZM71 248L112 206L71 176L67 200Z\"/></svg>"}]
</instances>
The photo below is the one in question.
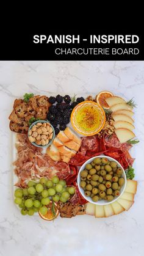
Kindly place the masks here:
<instances>
[{"instance_id":1,"label":"white rim of the bowl around the green olives, without the olives","mask_svg":"<svg viewBox=\"0 0 144 256\"><path fill-rule=\"evenodd\" d=\"M110 161L114 161L115 163L118 164L118 167L120 167L122 170L123 170L123 174L121 175L123 178L124 178L124 185L121 187L121 190L120 190L120 196L118 197L115 197L112 201L108 202L106 200L99 200L98 202L93 202L93 200L91 199L91 197L86 197L85 194L84 194L84 190L81 188L80 186L80 182L81 182L81 176L80 176L80 173L82 170L85 169L85 166L86 164L90 164L95 158L107 158L108 160ZM90 203L94 203L95 205L109 205L109 203L113 203L115 201L118 200L119 197L122 196L125 188L126 188L126 174L124 172L124 169L123 167L121 166L120 163L118 163L117 160L113 159L113 158L110 158L109 156L104 156L104 155L100 155L100 156L94 156L93 158L90 158L88 159L84 164L82 164L81 168L79 169L79 173L77 175L77 185L78 185L78 188L79 188L79 191L81 192L82 196Z\"/></svg>"}]
</instances>

